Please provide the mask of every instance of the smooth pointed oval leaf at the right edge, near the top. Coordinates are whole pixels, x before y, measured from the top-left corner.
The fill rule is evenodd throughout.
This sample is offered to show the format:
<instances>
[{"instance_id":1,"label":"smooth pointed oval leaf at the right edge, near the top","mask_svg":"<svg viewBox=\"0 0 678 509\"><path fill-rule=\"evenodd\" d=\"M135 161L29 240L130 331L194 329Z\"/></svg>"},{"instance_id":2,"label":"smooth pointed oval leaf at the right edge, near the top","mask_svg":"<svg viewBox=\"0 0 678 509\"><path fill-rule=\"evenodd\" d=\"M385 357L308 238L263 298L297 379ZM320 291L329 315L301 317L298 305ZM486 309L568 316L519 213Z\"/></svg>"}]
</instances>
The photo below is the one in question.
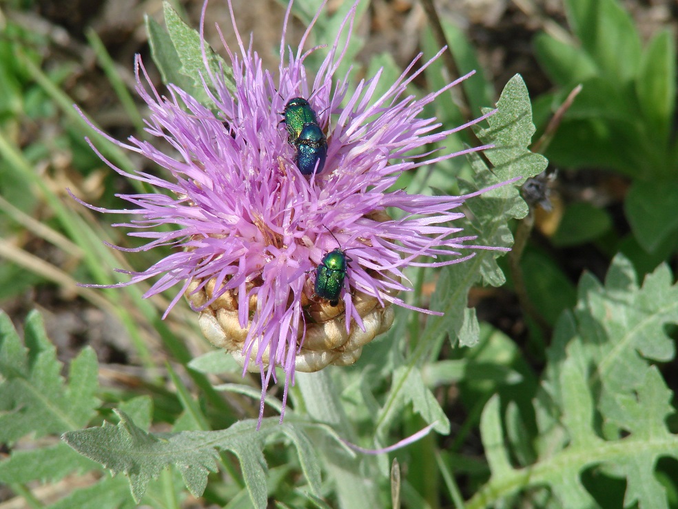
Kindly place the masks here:
<instances>
[{"instance_id":1,"label":"smooth pointed oval leaf at the right edge, near the top","mask_svg":"<svg viewBox=\"0 0 678 509\"><path fill-rule=\"evenodd\" d=\"M636 92L653 137L668 142L676 101L676 47L670 30L657 32L641 59Z\"/></svg>"}]
</instances>

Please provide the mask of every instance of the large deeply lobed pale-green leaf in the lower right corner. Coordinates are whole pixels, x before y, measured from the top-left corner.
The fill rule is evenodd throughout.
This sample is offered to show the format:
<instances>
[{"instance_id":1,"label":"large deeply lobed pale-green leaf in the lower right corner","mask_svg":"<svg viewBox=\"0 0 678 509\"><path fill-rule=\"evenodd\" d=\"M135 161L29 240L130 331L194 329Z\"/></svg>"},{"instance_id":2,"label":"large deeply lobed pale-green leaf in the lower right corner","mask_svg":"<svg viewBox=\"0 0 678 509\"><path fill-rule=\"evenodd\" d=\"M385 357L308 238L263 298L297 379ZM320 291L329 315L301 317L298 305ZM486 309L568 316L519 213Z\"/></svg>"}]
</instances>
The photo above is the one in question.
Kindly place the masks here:
<instances>
[{"instance_id":1,"label":"large deeply lobed pale-green leaf in the lower right corner","mask_svg":"<svg viewBox=\"0 0 678 509\"><path fill-rule=\"evenodd\" d=\"M491 477L466 508L537 486L551 488L558 501L553 507L606 506L582 484L590 468L626 479L625 507L668 508L655 468L660 457L678 459L678 435L667 427L673 396L654 363L675 359L675 343L665 332L667 324L678 323L672 279L661 266L638 287L623 257L613 261L604 286L590 275L582 278L575 310L557 323L534 399L536 458L513 466L500 399L493 397L480 426ZM509 436L517 432L508 412L504 426Z\"/></svg>"}]
</instances>

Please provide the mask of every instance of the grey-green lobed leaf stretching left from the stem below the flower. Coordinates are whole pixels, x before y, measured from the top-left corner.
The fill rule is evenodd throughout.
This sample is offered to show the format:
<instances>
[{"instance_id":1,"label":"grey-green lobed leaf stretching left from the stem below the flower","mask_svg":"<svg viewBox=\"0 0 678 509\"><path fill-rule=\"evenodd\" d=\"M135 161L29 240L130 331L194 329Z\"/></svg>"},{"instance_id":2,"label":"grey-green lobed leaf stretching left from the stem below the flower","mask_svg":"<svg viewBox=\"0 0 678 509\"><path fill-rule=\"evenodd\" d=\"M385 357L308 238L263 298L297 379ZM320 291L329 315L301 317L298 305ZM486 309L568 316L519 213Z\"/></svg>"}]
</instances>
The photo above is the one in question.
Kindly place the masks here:
<instances>
[{"instance_id":1,"label":"grey-green lobed leaf stretching left from the stem below the flower","mask_svg":"<svg viewBox=\"0 0 678 509\"><path fill-rule=\"evenodd\" d=\"M256 421L248 420L227 430L152 434L138 428L124 412L116 410L116 415L120 418L117 426L105 422L100 428L67 432L63 440L82 455L103 464L112 475L121 472L127 475L137 502L150 480L157 479L161 470L170 465L177 466L189 491L201 496L207 475L217 470L218 450L230 450L240 461L251 502L257 508L265 508L266 462L262 449L265 443L280 437L294 443L311 489L319 492L318 457L302 425L289 422L281 425L278 419L264 419L258 431ZM305 427L333 436L326 426Z\"/></svg>"}]
</instances>

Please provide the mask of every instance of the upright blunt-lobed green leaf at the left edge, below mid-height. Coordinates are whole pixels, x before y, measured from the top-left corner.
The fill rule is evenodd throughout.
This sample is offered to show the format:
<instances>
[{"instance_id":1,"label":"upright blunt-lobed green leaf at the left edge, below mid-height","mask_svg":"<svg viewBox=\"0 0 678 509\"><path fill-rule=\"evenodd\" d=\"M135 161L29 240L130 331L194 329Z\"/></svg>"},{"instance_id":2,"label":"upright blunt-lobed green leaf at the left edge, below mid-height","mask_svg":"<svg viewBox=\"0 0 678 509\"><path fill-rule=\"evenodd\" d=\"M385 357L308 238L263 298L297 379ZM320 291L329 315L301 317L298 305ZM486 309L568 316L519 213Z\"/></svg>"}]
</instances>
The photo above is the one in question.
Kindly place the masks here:
<instances>
[{"instance_id":1,"label":"upright blunt-lobed green leaf at the left edge, below mid-height","mask_svg":"<svg viewBox=\"0 0 678 509\"><path fill-rule=\"evenodd\" d=\"M28 348L21 345L10 318L0 312L0 441L12 443L29 433L41 437L85 426L99 404L94 397L98 388L94 350L83 348L71 362L65 383L38 312L26 318L24 341Z\"/></svg>"}]
</instances>

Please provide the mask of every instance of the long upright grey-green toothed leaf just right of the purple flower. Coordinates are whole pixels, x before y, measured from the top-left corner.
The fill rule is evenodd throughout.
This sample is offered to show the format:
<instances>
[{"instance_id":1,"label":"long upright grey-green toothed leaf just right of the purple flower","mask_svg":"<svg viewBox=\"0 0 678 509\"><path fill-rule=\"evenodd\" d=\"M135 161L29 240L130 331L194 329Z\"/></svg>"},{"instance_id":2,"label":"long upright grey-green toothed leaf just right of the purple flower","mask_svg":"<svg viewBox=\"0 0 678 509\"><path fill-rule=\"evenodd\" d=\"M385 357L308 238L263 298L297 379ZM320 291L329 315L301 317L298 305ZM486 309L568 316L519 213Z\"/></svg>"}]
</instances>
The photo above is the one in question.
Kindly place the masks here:
<instances>
[{"instance_id":1,"label":"long upright grey-green toothed leaf just right of the purple flower","mask_svg":"<svg viewBox=\"0 0 678 509\"><path fill-rule=\"evenodd\" d=\"M486 150L488 159L494 165L494 173L489 172L480 158L472 157L477 182L467 183L466 192L498 187L469 200L473 220L466 228L478 234L478 243L481 245L502 248L513 243L508 221L514 217L524 217L527 213L526 204L515 186L502 185L502 182L512 179L524 181L546 168L544 157L529 152L527 148L535 128L527 89L520 77L514 77L506 84L497 101L497 112L489 117L488 123L489 128L478 130L477 136L484 143L493 143L496 147ZM466 298L471 286L481 280L494 286L504 283L503 272L495 261L501 253L480 250L473 259L445 268L440 273L431 307L444 312L444 315L429 317L426 327L418 336L420 348L409 356L407 363L399 366L400 361L394 366L391 392L378 415L377 432L380 439L384 439L393 421L409 403L424 422L435 423L435 430L449 432L449 420L431 390L422 382L420 369L430 352L445 337L451 337L465 346L477 342L477 318L474 310L466 307Z\"/></svg>"}]
</instances>

